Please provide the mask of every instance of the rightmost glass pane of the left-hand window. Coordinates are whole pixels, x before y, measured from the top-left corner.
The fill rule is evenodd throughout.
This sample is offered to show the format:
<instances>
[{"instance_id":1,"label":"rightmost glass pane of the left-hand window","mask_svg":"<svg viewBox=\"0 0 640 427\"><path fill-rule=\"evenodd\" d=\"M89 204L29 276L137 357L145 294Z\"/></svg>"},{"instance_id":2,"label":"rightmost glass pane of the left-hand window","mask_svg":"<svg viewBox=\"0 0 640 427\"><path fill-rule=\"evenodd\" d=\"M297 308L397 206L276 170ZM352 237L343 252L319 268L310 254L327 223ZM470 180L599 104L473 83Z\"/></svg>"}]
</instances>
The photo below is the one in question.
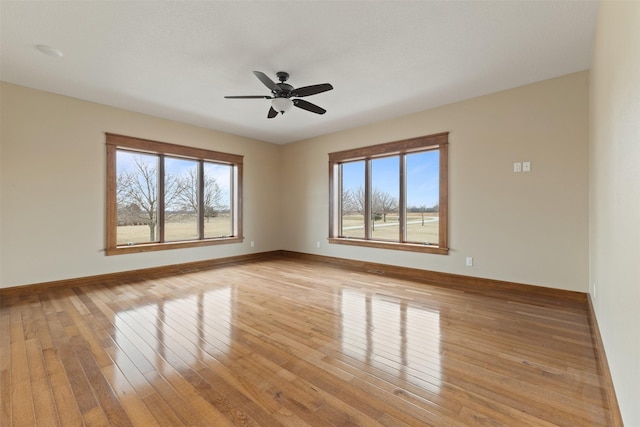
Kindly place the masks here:
<instances>
[{"instance_id":1,"label":"rightmost glass pane of the left-hand window","mask_svg":"<svg viewBox=\"0 0 640 427\"><path fill-rule=\"evenodd\" d=\"M204 163L204 237L233 235L231 190L233 167Z\"/></svg>"}]
</instances>

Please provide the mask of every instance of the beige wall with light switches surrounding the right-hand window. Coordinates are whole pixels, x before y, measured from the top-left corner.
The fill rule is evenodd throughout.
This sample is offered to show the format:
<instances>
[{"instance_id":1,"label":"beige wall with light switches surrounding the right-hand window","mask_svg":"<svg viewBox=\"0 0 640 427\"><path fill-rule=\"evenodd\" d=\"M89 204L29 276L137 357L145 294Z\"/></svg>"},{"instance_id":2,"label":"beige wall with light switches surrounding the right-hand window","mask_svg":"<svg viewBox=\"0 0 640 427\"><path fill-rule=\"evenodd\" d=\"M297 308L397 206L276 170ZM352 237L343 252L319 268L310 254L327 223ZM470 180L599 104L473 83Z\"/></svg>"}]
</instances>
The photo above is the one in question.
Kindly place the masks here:
<instances>
[{"instance_id":1,"label":"beige wall with light switches surrounding the right-hand window","mask_svg":"<svg viewBox=\"0 0 640 427\"><path fill-rule=\"evenodd\" d=\"M581 72L283 146L284 249L587 292L588 88ZM327 243L328 153L443 131L449 255Z\"/></svg>"}]
</instances>

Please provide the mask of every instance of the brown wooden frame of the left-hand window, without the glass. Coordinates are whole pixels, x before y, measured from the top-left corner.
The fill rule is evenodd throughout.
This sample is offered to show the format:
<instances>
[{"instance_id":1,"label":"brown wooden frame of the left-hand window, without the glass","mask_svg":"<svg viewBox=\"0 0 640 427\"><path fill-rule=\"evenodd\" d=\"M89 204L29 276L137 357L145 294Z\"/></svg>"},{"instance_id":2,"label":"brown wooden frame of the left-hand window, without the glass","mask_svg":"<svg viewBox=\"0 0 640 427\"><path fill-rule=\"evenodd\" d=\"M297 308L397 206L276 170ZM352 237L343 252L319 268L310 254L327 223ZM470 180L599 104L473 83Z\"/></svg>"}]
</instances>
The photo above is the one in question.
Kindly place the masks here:
<instances>
[{"instance_id":1,"label":"brown wooden frame of the left-hand window, without the glass","mask_svg":"<svg viewBox=\"0 0 640 427\"><path fill-rule=\"evenodd\" d=\"M243 156L236 154L221 153L218 151L205 150L202 148L193 148L183 145L170 144L166 142L152 141L149 139L135 138L131 136L106 133L107 147L107 227L106 227L106 255L120 255L139 252L162 251L170 249L194 248L200 246L220 245L229 243L242 243L244 240L242 232L242 169ZM202 168L201 161L214 163L222 163L233 166L235 179L232 180L234 188L232 188L231 210L233 236L219 238L200 238L198 240L183 240L152 243L138 243L134 245L118 245L117 227L118 227L118 207L116 200L116 183L117 183L117 159L116 155L119 149L127 151L136 151L142 154L153 154L157 156L182 157L190 160L199 161L199 168ZM163 168L163 162L160 162L160 169ZM161 171L162 173L162 171ZM159 186L162 186L164 179L159 180ZM200 183L200 185L203 185ZM162 191L162 190L160 190ZM159 210L158 226L163 227L162 216L163 210ZM200 215L200 214L199 214ZM162 221L164 222L164 221ZM198 225L199 227L200 224ZM163 233L160 233L162 236ZM203 234L200 233L200 236Z\"/></svg>"}]
</instances>

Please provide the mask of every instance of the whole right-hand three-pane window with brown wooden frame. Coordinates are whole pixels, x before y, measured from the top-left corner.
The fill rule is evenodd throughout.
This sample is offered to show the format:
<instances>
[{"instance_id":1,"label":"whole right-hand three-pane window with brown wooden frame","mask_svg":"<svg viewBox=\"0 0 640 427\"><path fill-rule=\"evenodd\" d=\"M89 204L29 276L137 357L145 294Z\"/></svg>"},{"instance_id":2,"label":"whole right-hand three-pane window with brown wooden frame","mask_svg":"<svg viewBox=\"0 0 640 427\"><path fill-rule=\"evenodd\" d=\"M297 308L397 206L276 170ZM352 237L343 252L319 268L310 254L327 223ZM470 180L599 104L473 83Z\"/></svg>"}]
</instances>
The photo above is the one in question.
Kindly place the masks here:
<instances>
[{"instance_id":1,"label":"whole right-hand three-pane window with brown wooden frame","mask_svg":"<svg viewBox=\"0 0 640 427\"><path fill-rule=\"evenodd\" d=\"M447 254L449 133L329 154L329 242Z\"/></svg>"}]
</instances>

